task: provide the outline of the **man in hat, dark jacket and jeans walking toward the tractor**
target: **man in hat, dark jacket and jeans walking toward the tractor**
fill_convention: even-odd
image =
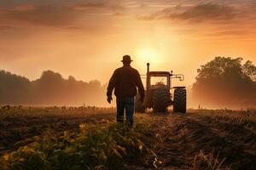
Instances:
[[[126,123],[133,124],[134,96],[137,94],[137,88],[141,95],[140,101],[144,100],[143,82],[139,72],[131,67],[131,57],[123,57],[123,66],[113,72],[113,76],[108,83],[108,103],[112,101],[112,92],[116,96],[117,122],[124,122],[124,112]]]

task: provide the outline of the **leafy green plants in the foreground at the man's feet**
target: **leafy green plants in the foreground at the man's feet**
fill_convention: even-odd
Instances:
[[[79,133],[64,132],[61,137],[44,133],[2,156],[0,169],[123,169],[125,161],[136,161],[147,152],[142,139],[149,123],[137,119],[132,128],[107,122],[81,124]]]

